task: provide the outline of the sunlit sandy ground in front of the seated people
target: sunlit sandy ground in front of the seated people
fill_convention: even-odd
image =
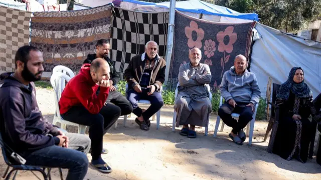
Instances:
[[[37,100],[48,119],[52,120],[55,110],[52,89],[37,88]],[[112,128],[104,136],[104,147],[109,150],[102,157],[113,168],[109,174],[89,168],[85,179],[320,179],[321,166],[313,159],[303,164],[295,159],[287,161],[266,151],[263,141],[267,121],[256,121],[253,145],[247,141],[240,146],[231,141],[225,126],[218,137],[213,137],[216,116],[211,115],[209,134],[197,128],[198,137],[187,138],[172,132],[173,106],[164,106],[161,112],[161,127],[156,130],[152,121],[149,131],[142,131],[134,123],[135,115],[119,118],[117,129]],[[76,131],[77,127],[67,126]],[[88,130],[88,128],[87,128]],[[88,135],[88,133],[86,134]],[[91,156],[88,154],[89,160]],[[6,164],[1,159],[2,173]],[[66,177],[67,170],[63,171]],[[53,169],[53,179],[59,179]],[[17,179],[37,179],[31,172],[20,171]],[[42,179],[42,178],[41,178]]]

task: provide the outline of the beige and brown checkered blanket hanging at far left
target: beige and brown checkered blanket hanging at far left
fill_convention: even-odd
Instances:
[[[15,70],[19,47],[29,43],[31,12],[0,6],[0,73]]]

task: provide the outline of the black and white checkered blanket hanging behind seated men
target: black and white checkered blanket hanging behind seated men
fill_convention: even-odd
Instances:
[[[145,43],[154,40],[158,54],[166,53],[169,13],[146,13],[114,7],[111,59],[115,61],[120,79],[131,57],[145,51]]]

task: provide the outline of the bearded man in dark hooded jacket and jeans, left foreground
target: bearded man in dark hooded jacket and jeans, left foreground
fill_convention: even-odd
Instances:
[[[16,71],[1,75],[2,138],[27,165],[68,168],[66,179],[83,179],[91,140],[83,134],[64,134],[42,115],[33,81],[40,80],[43,61],[36,47],[22,46],[15,56]]]

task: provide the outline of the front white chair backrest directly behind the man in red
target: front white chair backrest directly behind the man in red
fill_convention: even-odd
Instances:
[[[60,100],[61,93],[65,88],[65,83],[63,83],[62,85],[61,81],[65,82],[65,80],[68,82],[70,80],[70,76],[62,72],[53,73],[50,77],[51,86],[53,87],[55,92],[54,98],[55,98],[55,105],[56,105],[56,115],[58,118],[61,118],[58,102]]]

